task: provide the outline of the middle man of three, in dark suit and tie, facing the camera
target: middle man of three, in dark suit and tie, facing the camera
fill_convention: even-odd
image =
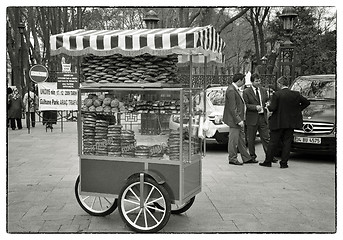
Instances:
[[[258,73],[250,77],[252,86],[243,92],[243,98],[247,106],[245,124],[247,125],[248,148],[252,159],[256,160],[255,139],[257,131],[260,134],[263,150],[267,153],[269,142],[269,129],[267,122],[267,110],[264,108],[269,99],[267,89],[261,87],[261,79]]]

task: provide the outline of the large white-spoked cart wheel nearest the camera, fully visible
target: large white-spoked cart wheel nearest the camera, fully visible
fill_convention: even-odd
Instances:
[[[145,178],[143,186],[139,177],[129,180],[120,191],[119,201],[120,216],[136,232],[158,232],[169,220],[169,194],[151,178]]]

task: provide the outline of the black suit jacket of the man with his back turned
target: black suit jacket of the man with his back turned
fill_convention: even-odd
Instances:
[[[274,93],[268,109],[272,111],[269,118],[269,129],[302,128],[304,110],[310,101],[299,92],[284,88]]]

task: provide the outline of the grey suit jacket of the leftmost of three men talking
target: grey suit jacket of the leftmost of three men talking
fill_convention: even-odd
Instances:
[[[229,127],[239,128],[238,123],[244,120],[245,104],[238,90],[229,84],[225,93],[223,122]]]

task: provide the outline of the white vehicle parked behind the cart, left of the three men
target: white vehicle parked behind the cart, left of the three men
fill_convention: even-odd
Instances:
[[[206,141],[224,144],[228,142],[229,126],[223,121],[223,112],[225,105],[225,92],[227,86],[209,86],[206,91],[206,119],[210,129],[206,132]],[[195,108],[203,111],[204,106],[201,104],[201,95],[194,99]],[[188,124],[188,119],[184,119],[184,126]],[[177,130],[180,127],[180,116],[172,115],[169,121],[169,128]]]

